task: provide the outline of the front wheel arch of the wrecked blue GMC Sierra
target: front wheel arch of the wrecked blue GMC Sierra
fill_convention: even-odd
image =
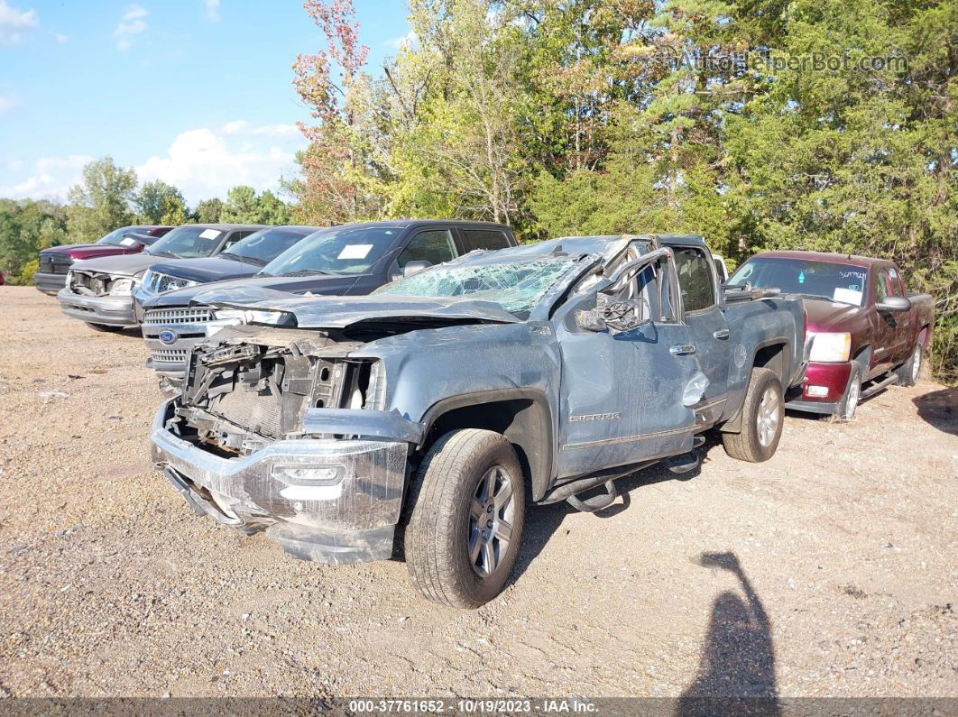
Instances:
[[[555,447],[549,401],[534,389],[499,389],[445,398],[422,417],[422,450],[449,431],[480,428],[500,433],[513,444],[519,464],[530,482],[534,501],[549,486]]]

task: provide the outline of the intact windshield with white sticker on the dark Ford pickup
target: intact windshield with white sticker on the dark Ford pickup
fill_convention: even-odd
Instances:
[[[331,227],[308,235],[270,261],[263,274],[361,274],[396,242],[399,227]]]

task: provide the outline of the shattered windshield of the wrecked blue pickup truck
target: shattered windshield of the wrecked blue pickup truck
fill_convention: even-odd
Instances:
[[[393,281],[375,293],[496,302],[516,318],[526,320],[575,263],[576,259],[563,256],[445,264]]]

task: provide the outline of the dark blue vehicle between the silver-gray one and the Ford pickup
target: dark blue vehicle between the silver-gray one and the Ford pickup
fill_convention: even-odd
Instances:
[[[137,318],[143,318],[144,302],[159,294],[211,281],[252,277],[289,247],[318,230],[319,227],[299,225],[267,227],[245,236],[216,257],[171,259],[153,264],[133,293]]]

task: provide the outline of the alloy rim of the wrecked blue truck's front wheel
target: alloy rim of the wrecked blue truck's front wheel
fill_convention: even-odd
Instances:
[[[501,465],[493,465],[479,479],[469,505],[469,564],[480,576],[487,577],[502,565],[513,539],[514,519],[513,477]]]

